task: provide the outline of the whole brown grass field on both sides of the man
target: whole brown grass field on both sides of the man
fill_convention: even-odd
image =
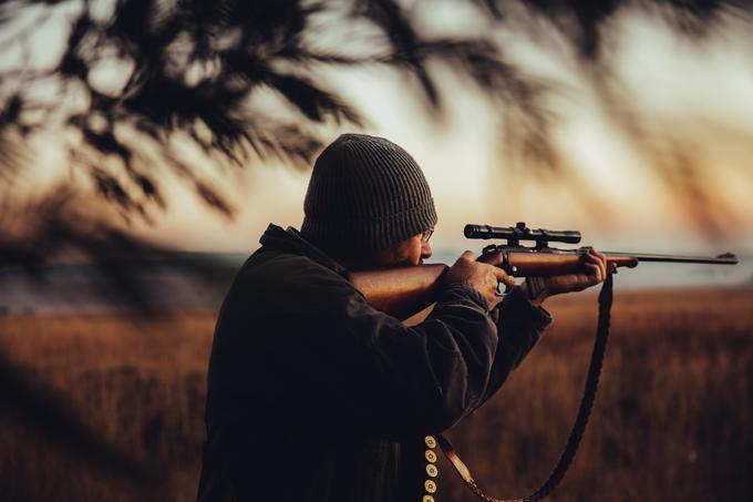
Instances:
[[[580,399],[596,298],[547,307],[546,337],[448,433],[494,496],[523,496],[544,481]],[[210,311],[0,316],[6,373],[155,474],[144,480],[62,438],[50,409],[3,407],[2,500],[195,499],[213,325]],[[444,460],[440,484],[440,502],[475,500]],[[753,289],[617,291],[591,422],[551,500],[753,500]]]

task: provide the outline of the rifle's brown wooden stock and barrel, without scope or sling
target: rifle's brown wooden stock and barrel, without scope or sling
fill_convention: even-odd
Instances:
[[[555,276],[581,272],[582,255],[588,248],[535,250],[504,246],[485,252],[479,262],[505,269],[515,277]],[[734,265],[737,258],[732,254],[718,257],[652,255],[630,253],[604,253],[609,264],[633,268],[639,262],[695,263]],[[350,273],[353,286],[363,294],[367,301],[378,310],[399,319],[406,319],[436,301],[444,284],[447,265],[416,265],[378,270],[354,270]]]

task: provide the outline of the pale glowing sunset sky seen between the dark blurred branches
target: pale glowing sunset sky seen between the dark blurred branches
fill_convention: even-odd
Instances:
[[[427,19],[477,22],[450,3]],[[394,141],[423,167],[440,215],[432,237],[437,249],[478,247],[462,238],[465,223],[525,221],[532,227],[579,229],[584,243],[602,249],[753,253],[751,20],[726,19],[704,44],[679,38],[642,11],[627,12],[615,23],[605,41],[617,54],[613,79],[651,139],[651,151],[637,148],[616,125],[613,111],[599,101],[586,70],[554,30],[533,37],[512,27],[499,33],[505,52],[520,68],[557,89],[549,102],[557,116],[555,143],[578,178],[530,176],[525,165],[513,166],[499,135],[499,111],[448,72],[441,120],[425,113],[405,75],[393,71],[351,69],[321,78],[364,114],[368,125],[361,132]],[[34,58],[54,60],[54,48],[62,48],[65,38],[63,25],[53,18],[40,30]],[[7,64],[12,54],[4,58]],[[331,140],[347,131],[333,130]],[[687,147],[702,166],[703,182],[719,194],[715,204],[730,216],[716,239],[698,230],[692,212],[650,168],[670,143]],[[53,145],[39,148],[38,156],[39,178],[66,172]],[[238,209],[233,221],[208,211],[193,193],[174,188],[167,212],[137,232],[178,249],[252,250],[270,222],[300,225],[308,175],[256,163],[217,176],[215,185]]]

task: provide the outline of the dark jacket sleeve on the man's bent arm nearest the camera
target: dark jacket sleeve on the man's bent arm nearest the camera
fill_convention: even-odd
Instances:
[[[472,288],[447,287],[430,317],[412,328],[358,295],[343,314],[337,331],[348,339],[358,383],[349,406],[370,432],[395,438],[437,432],[481,404],[497,329]]]

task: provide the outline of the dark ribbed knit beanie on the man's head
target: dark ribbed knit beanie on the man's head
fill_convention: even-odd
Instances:
[[[333,256],[367,256],[436,225],[419,164],[365,134],[343,134],[319,155],[303,212],[301,235]]]

